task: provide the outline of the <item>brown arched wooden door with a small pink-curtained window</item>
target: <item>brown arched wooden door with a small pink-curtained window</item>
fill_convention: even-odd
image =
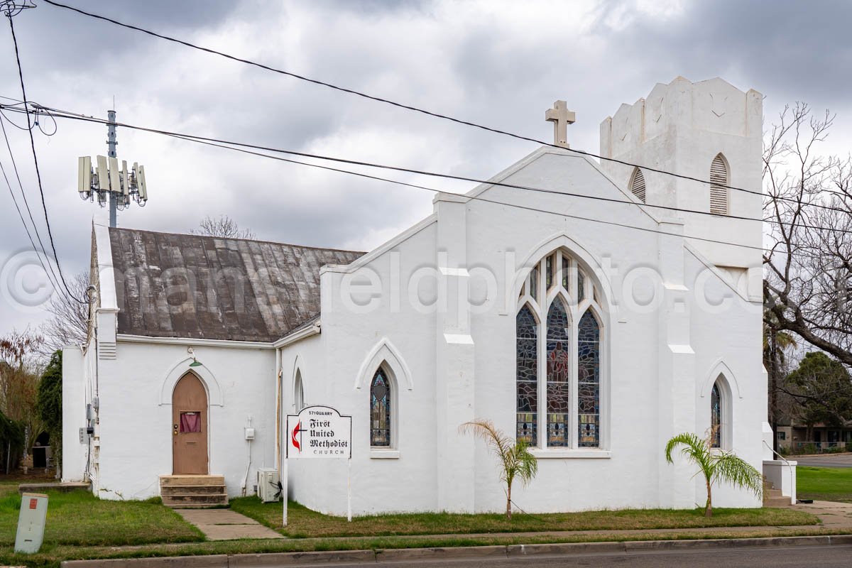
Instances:
[[[187,373],[171,395],[172,473],[207,475],[207,393]]]

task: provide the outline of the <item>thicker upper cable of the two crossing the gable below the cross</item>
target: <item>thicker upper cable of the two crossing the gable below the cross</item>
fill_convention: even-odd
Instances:
[[[12,106],[4,106],[3,104],[0,104],[0,109],[2,109],[2,108],[9,108],[9,110],[12,110],[14,112],[29,112],[29,111],[23,111],[23,110],[14,108]],[[43,109],[44,111],[52,113],[52,116],[54,116],[55,118],[68,118],[68,119],[71,119],[71,120],[78,120],[78,121],[83,121],[83,122],[91,122],[91,123],[99,123],[99,124],[106,124],[107,123],[107,121],[102,119],[102,118],[89,117],[89,116],[79,114],[79,113],[62,111],[60,109],[51,108],[49,106],[40,106],[39,108]],[[270,146],[259,146],[259,145],[255,145],[255,144],[248,144],[248,143],[245,143],[245,142],[227,141],[227,140],[221,140],[221,139],[217,139],[217,138],[209,138],[209,137],[206,137],[206,136],[189,135],[189,134],[184,134],[184,133],[180,133],[180,132],[172,132],[172,131],[169,131],[169,130],[147,128],[147,127],[137,126],[135,124],[129,124],[129,123],[117,123],[117,125],[121,126],[123,128],[127,128],[127,129],[135,129],[135,130],[141,130],[143,132],[151,132],[153,134],[179,137],[179,138],[183,138],[185,140],[193,139],[195,141],[206,141],[206,142],[213,142],[213,143],[218,143],[218,144],[227,144],[227,145],[231,145],[231,146],[243,146],[243,147],[246,147],[246,148],[253,148],[253,149],[262,150],[262,151],[265,151],[265,152],[279,152],[279,153],[290,154],[290,155],[293,155],[293,156],[299,156],[299,157],[302,157],[302,158],[320,159],[320,160],[326,160],[326,161],[331,161],[331,162],[337,162],[337,163],[341,163],[341,164],[366,166],[366,167],[377,168],[377,169],[390,169],[390,170],[400,171],[400,172],[407,173],[407,174],[426,175],[426,176],[429,176],[429,177],[440,177],[440,178],[445,178],[445,179],[450,179],[450,180],[455,180],[455,181],[470,181],[470,182],[473,182],[473,183],[486,184],[486,185],[491,185],[491,186],[509,187],[509,188],[513,188],[513,189],[522,189],[522,190],[532,191],[532,192],[544,192],[544,193],[562,195],[562,196],[567,196],[567,197],[591,199],[591,200],[594,200],[594,201],[602,201],[602,202],[616,203],[616,204],[629,204],[629,205],[636,205],[636,206],[639,206],[639,207],[649,207],[649,208],[654,208],[654,209],[665,209],[665,210],[677,211],[679,213],[691,213],[691,214],[695,214],[695,215],[710,215],[712,217],[723,216],[724,218],[727,218],[727,219],[737,219],[737,220],[741,220],[741,221],[769,222],[769,223],[773,223],[773,224],[781,225],[781,226],[785,226],[785,225],[790,226],[791,225],[790,223],[785,223],[784,221],[775,221],[773,219],[762,219],[762,218],[758,219],[758,218],[755,218],[755,217],[746,217],[746,216],[742,216],[742,215],[717,215],[717,214],[711,213],[710,211],[701,211],[701,210],[698,210],[698,209],[681,209],[681,208],[673,207],[673,206],[670,206],[670,205],[659,205],[659,204],[640,204],[640,203],[636,203],[636,202],[633,202],[633,201],[625,201],[623,199],[606,198],[606,197],[596,196],[596,195],[585,195],[583,193],[561,192],[561,191],[557,191],[557,190],[544,189],[542,187],[520,186],[520,185],[516,185],[516,184],[502,182],[502,181],[481,180],[481,179],[477,179],[477,178],[473,178],[473,177],[467,177],[467,176],[463,176],[463,175],[440,174],[440,173],[437,173],[437,172],[431,172],[431,171],[421,170],[421,169],[402,168],[400,166],[391,166],[391,165],[387,165],[387,164],[376,164],[376,163],[364,162],[364,161],[360,161],[360,160],[350,160],[350,159],[347,159],[347,158],[336,158],[336,157],[331,157],[331,156],[324,156],[324,155],[321,155],[321,154],[312,154],[312,153],[308,153],[308,152],[296,152],[294,150],[286,150],[286,149],[283,149],[283,148],[274,148],[274,147],[270,147]],[[561,148],[561,149],[564,150],[564,148]],[[844,212],[843,209],[831,208],[831,207],[828,207],[826,205],[820,205],[820,207]],[[834,227],[820,227],[820,226],[806,225],[806,224],[797,224],[797,227],[802,227],[802,228],[807,228],[807,229],[815,229],[815,230],[820,230],[820,231],[832,230],[832,231],[838,231],[838,232],[852,233],[852,230],[836,229]]]

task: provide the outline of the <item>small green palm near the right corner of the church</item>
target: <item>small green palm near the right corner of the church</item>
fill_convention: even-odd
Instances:
[[[682,454],[699,467],[699,473],[704,474],[707,486],[705,517],[713,516],[712,487],[717,481],[726,481],[736,487],[747,489],[758,498],[763,496],[763,476],[757,469],[732,451],[712,449],[712,439],[712,431],[705,439],[700,439],[694,433],[682,433],[677,434],[665,445],[666,462],[674,463],[671,459],[672,450],[675,450],[677,446],[683,446]]]

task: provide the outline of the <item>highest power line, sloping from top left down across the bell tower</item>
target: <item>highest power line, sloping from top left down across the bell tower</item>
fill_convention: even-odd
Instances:
[[[630,166],[630,167],[633,167],[633,168],[641,168],[641,169],[644,169],[645,171],[651,171],[651,172],[654,172],[654,173],[657,173],[657,174],[672,175],[672,176],[680,178],[682,180],[697,181],[697,182],[702,183],[702,184],[710,184],[711,183],[711,181],[709,181],[709,180],[702,180],[700,178],[693,177],[691,175],[676,174],[674,172],[666,171],[665,169],[657,169],[657,168],[652,168],[650,166],[633,164],[633,163],[627,162],[625,160],[620,160],[618,158],[609,158],[609,157],[601,156],[601,155],[593,153],[593,152],[586,152],[584,150],[575,150],[573,148],[566,148],[564,146],[559,146],[557,144],[553,144],[553,143],[550,143],[550,142],[541,141],[541,140],[538,140],[536,138],[532,138],[530,136],[519,135],[519,134],[516,134],[514,132],[509,132],[507,130],[496,129],[496,128],[492,128],[490,126],[486,126],[484,124],[474,123],[474,122],[470,122],[468,120],[463,120],[462,118],[451,117],[451,116],[446,115],[446,114],[441,114],[440,112],[428,111],[428,110],[425,110],[423,108],[420,108],[420,107],[417,107],[417,106],[412,106],[412,105],[406,105],[404,103],[400,103],[400,102],[397,102],[395,100],[384,99],[383,97],[379,97],[379,96],[376,96],[376,95],[369,95],[369,94],[364,93],[362,91],[357,91],[357,90],[354,90],[354,89],[347,89],[345,87],[341,87],[341,86],[336,85],[334,83],[328,83],[328,82],[325,82],[325,81],[320,81],[319,79],[306,77],[304,75],[300,75],[300,74],[295,73],[295,72],[285,71],[284,69],[279,69],[279,68],[276,68],[276,67],[272,67],[272,66],[264,65],[262,63],[258,63],[258,62],[253,61],[253,60],[248,60],[248,59],[244,59],[244,58],[241,58],[241,57],[237,57],[236,55],[229,55],[229,54],[223,53],[222,51],[217,51],[216,49],[205,48],[205,47],[197,45],[195,43],[187,42],[187,41],[182,40],[182,39],[177,39],[176,37],[166,36],[162,33],[153,32],[151,30],[147,30],[147,29],[139,27],[139,26],[133,26],[131,24],[126,24],[126,23],[118,21],[118,20],[113,20],[112,18],[107,18],[107,16],[103,16],[101,14],[94,14],[92,12],[87,12],[85,10],[75,8],[73,6],[68,6],[67,4],[54,2],[53,0],[44,0],[44,2],[49,3],[53,6],[56,6],[57,8],[72,10],[73,12],[77,12],[78,14],[83,14],[85,16],[89,16],[90,18],[95,18],[96,20],[107,21],[107,22],[114,24],[116,26],[122,26],[122,27],[128,28],[130,30],[134,30],[135,32],[142,32],[142,33],[145,33],[149,36],[158,37],[160,39],[164,39],[164,40],[169,41],[169,42],[179,43],[179,44],[184,45],[188,48],[199,49],[200,51],[204,51],[204,52],[212,54],[212,55],[219,55],[219,56],[224,57],[224,58],[229,59],[229,60],[238,61],[239,63],[245,63],[245,65],[259,67],[259,68],[261,68],[265,71],[269,71],[269,72],[273,72],[273,73],[279,73],[279,75],[285,75],[287,77],[293,77],[293,78],[299,79],[301,81],[307,81],[308,83],[314,83],[314,84],[320,85],[322,87],[327,87],[328,89],[335,89],[337,91],[347,93],[348,95],[356,95],[356,96],[360,96],[360,97],[368,99],[368,100],[375,100],[376,102],[381,102],[381,103],[384,103],[386,105],[396,106],[398,108],[403,108],[403,109],[406,109],[408,111],[419,112],[421,114],[424,114],[424,115],[432,117],[432,118],[440,118],[442,120],[447,120],[447,121],[450,121],[452,123],[463,124],[465,126],[471,126],[475,129],[485,130],[486,132],[492,132],[494,134],[510,136],[510,137],[515,138],[517,140],[534,142],[534,143],[540,144],[542,146],[550,146],[550,147],[554,147],[554,148],[559,148],[561,150],[567,150],[568,152],[574,152],[574,153],[579,154],[581,156],[586,156],[586,157],[589,157],[589,158],[597,158],[597,159],[600,159],[600,160],[606,160],[607,162],[613,162],[614,164],[622,164],[622,165]],[[724,187],[726,189],[731,189],[731,190],[738,191],[738,192],[746,192],[746,193],[752,193],[754,195],[763,196],[763,192],[755,191],[753,189],[746,189],[744,187],[728,186],[728,185],[722,185],[722,184],[713,184],[713,185],[719,186],[719,187]]]

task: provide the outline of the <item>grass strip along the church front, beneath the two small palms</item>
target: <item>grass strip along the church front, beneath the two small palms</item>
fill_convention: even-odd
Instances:
[[[711,519],[705,518],[703,509],[626,509],[536,515],[515,513],[510,521],[502,514],[383,514],[354,517],[349,523],[343,517],[315,513],[291,502],[287,526],[282,528],[281,503],[262,503],[256,497],[241,497],[231,500],[231,508],[294,538],[815,525],[818,522],[814,515],[792,509],[714,508]]]

